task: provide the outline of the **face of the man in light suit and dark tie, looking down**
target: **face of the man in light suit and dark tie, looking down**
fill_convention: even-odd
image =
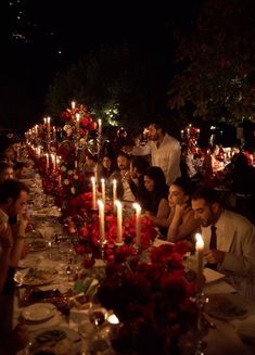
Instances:
[[[207,203],[204,199],[191,201],[194,211],[194,218],[199,219],[203,227],[208,227],[216,220],[216,215],[219,208],[218,203]]]

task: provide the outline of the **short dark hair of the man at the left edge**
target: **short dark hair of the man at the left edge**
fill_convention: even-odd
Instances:
[[[29,192],[28,187],[24,182],[15,179],[3,181],[0,185],[0,203],[7,203],[10,198],[16,201],[22,191]]]

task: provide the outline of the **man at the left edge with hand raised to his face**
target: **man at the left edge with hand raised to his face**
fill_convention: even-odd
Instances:
[[[28,218],[24,212],[28,198],[28,188],[25,183],[10,179],[0,185],[0,229],[11,233],[13,246],[9,258],[9,276],[2,290],[3,294],[12,293],[13,275],[18,261],[27,252],[25,243],[25,232]],[[14,225],[10,225],[10,219],[17,216]]]

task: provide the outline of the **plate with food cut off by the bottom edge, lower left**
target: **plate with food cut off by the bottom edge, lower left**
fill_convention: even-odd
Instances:
[[[35,334],[29,346],[29,354],[36,355],[40,352],[55,355],[75,355],[78,353],[76,344],[79,341],[79,334],[72,329],[46,329]]]

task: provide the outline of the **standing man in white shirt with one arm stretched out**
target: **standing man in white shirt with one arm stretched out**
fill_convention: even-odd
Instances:
[[[156,123],[148,127],[149,142],[143,147],[125,147],[123,150],[132,155],[151,154],[152,166],[160,166],[170,186],[180,174],[180,143],[167,135],[162,125]]]

